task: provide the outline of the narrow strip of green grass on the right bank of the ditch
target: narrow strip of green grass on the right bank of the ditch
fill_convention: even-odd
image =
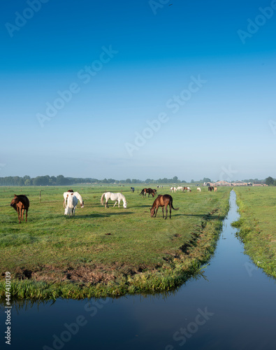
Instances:
[[[245,252],[264,272],[276,278],[276,187],[235,188],[240,219],[232,225]]]

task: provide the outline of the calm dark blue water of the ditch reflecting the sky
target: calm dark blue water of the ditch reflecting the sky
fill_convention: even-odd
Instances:
[[[1,349],[276,349],[276,283],[243,253],[235,193],[205,277],[174,293],[16,305]],[[5,327],[5,326],[4,326]],[[5,346],[6,345],[6,346]]]

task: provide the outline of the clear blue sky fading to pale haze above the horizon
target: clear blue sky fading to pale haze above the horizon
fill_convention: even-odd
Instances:
[[[274,0],[1,6],[0,176],[276,176]]]

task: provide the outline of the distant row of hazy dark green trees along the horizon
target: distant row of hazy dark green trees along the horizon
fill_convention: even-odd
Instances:
[[[211,182],[209,178],[204,178],[199,181],[191,180],[191,183],[204,183]],[[268,176],[266,180],[258,180],[258,179],[249,179],[245,182],[252,183],[266,183],[268,186],[274,185],[276,186],[276,180],[271,176]],[[63,175],[59,176],[36,176],[35,178],[31,178],[26,175],[23,177],[20,176],[6,176],[0,177],[0,186],[70,186],[74,183],[187,183],[187,181],[179,180],[177,176],[174,176],[172,179],[146,179],[145,181],[141,181],[139,179],[125,179],[125,180],[115,180],[115,179],[92,179],[92,178],[73,178],[73,177],[64,177]]]

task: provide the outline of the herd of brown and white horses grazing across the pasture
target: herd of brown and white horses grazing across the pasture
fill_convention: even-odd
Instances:
[[[191,189],[189,187],[182,187],[179,186],[177,188],[172,187],[170,188],[170,192],[176,192],[177,190],[187,190],[188,192],[191,192]],[[131,191],[134,192],[134,188],[131,188]],[[201,188],[197,188],[197,191],[201,192]],[[217,191],[216,187],[209,186],[208,191]],[[139,195],[146,196],[148,194],[148,197],[152,195],[152,197],[155,197],[157,194],[157,190],[154,190],[152,188],[143,188],[143,190],[139,193]],[[104,200],[106,200],[105,203]],[[123,207],[126,209],[126,198],[122,193],[112,193],[112,192],[105,192],[103,195],[101,195],[101,204],[105,204],[105,208],[108,208],[108,200],[115,201],[115,205],[118,203],[123,202]],[[85,202],[82,200],[82,196],[78,192],[74,192],[73,190],[67,190],[64,192],[64,215],[74,216],[75,215],[75,207],[77,206],[78,202],[80,202],[80,207],[83,208]],[[25,211],[25,218],[27,222],[27,216],[28,216],[28,210],[29,210],[29,199],[25,195],[14,195],[13,200],[10,202],[10,207],[13,207],[15,211],[17,211],[18,214],[18,221],[21,223],[24,216]],[[178,210],[179,208],[175,209],[173,207],[173,197],[170,195],[158,195],[156,200],[154,200],[154,203],[152,204],[152,208],[150,209],[150,215],[153,217],[157,216],[157,210],[158,208],[162,208],[163,218],[164,218],[164,207],[166,210],[166,218],[168,216],[168,207],[170,207],[170,216],[171,216],[171,209]],[[166,219],[165,218],[165,219]]]

